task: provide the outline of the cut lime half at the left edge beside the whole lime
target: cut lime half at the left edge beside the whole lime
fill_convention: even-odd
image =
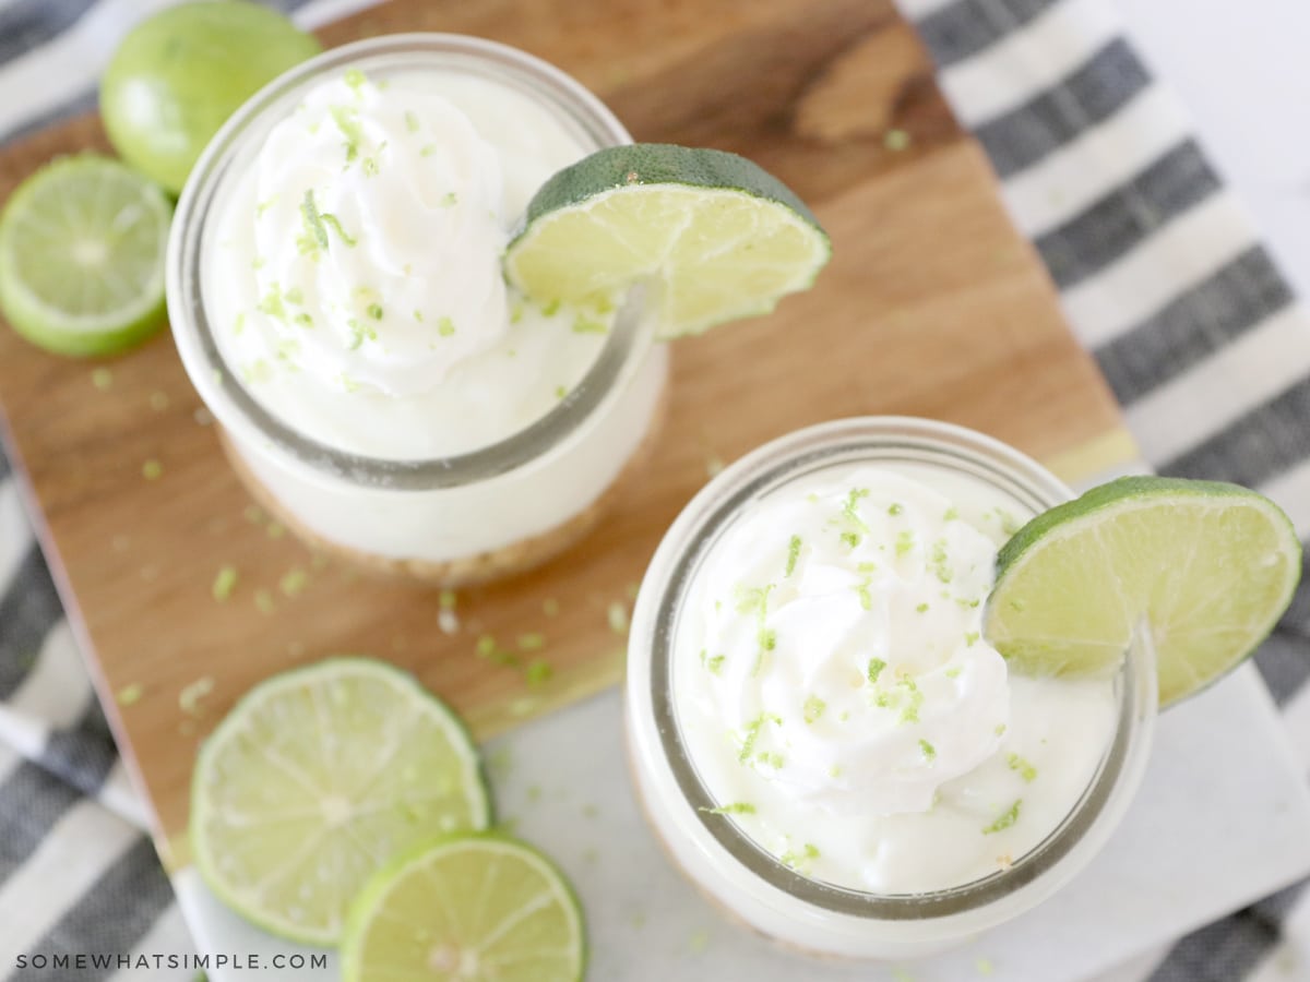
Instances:
[[[96,155],[29,177],[0,215],[0,309],[60,355],[107,355],[164,323],[173,206],[153,183]]]

